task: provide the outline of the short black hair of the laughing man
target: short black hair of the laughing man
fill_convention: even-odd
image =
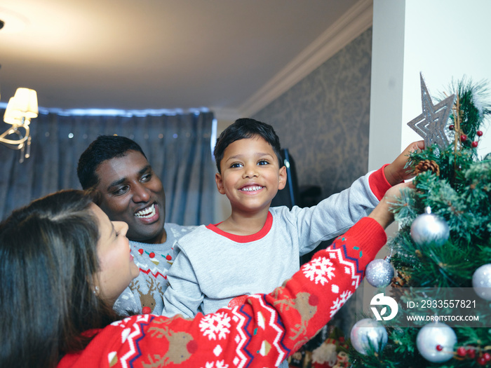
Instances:
[[[95,170],[106,160],[123,157],[128,151],[140,152],[147,158],[142,151],[142,147],[132,139],[119,135],[100,135],[94,142],[90,143],[79,158],[79,165],[76,168],[76,175],[83,189],[90,189],[99,183],[99,177]]]

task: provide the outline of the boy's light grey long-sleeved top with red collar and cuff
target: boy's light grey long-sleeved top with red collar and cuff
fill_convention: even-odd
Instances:
[[[381,170],[316,206],[271,207],[266,224],[253,235],[236,236],[208,225],[180,238],[163,315],[213,313],[241,304],[245,295],[272,292],[300,269],[300,255],[346,232],[379,203],[370,184],[381,193],[389,189]]]

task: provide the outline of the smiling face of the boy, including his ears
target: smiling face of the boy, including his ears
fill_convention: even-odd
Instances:
[[[262,137],[239,139],[227,146],[215,175],[217,189],[229,198],[232,212],[253,213],[269,208],[285,187],[286,168],[279,167],[273,147]]]

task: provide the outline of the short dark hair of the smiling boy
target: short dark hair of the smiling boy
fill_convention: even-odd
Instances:
[[[213,156],[215,156],[218,172],[221,173],[220,162],[222,161],[225,149],[239,139],[250,138],[255,135],[262,137],[262,139],[271,144],[276,157],[278,157],[278,163],[281,168],[283,166],[283,158],[281,158],[280,139],[276,135],[273,127],[252,118],[240,118],[232,125],[229,125],[217,139]]]

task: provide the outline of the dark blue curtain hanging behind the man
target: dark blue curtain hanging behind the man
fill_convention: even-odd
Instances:
[[[1,116],[4,115],[0,111]],[[0,145],[0,216],[60,189],[80,189],[76,165],[99,135],[135,140],[161,177],[166,191],[166,222],[213,222],[215,165],[210,149],[213,113],[146,116],[63,116],[40,114],[32,120],[31,157]],[[7,124],[0,123],[0,130]]]

